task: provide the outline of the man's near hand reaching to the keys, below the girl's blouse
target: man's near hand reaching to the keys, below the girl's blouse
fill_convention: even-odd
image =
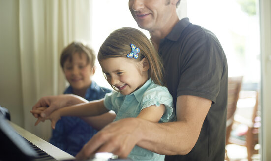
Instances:
[[[143,138],[143,134],[138,131],[140,123],[139,118],[125,118],[107,125],[84,145],[76,158],[85,160],[97,152],[111,152],[120,158],[127,158]]]

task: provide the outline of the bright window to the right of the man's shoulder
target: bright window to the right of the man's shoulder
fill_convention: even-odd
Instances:
[[[256,0],[188,0],[190,22],[212,31],[228,60],[229,76],[243,75],[242,88],[257,90],[260,29]]]

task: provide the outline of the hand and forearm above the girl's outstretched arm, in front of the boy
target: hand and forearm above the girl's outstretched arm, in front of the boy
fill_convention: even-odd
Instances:
[[[45,96],[42,97],[33,107],[31,111],[36,111],[40,107],[47,107],[43,109],[39,114],[32,113],[36,118],[46,118],[49,116],[53,111],[60,109],[62,107],[67,107],[83,102],[88,102],[82,97],[72,95],[72,94],[64,94],[58,96]]]

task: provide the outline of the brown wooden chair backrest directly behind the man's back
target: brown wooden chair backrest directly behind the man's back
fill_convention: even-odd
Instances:
[[[231,134],[236,105],[241,90],[243,76],[229,77],[228,79],[228,104],[227,104],[227,129],[226,129],[226,144]]]

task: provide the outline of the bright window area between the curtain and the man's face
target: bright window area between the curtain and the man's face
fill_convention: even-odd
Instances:
[[[94,51],[98,53],[100,46],[107,36],[121,27],[133,27],[141,30],[147,37],[149,32],[137,26],[132,17],[128,0],[92,0],[92,40]],[[96,62],[97,70],[93,80],[100,86],[111,88],[103,78],[99,62]]]

